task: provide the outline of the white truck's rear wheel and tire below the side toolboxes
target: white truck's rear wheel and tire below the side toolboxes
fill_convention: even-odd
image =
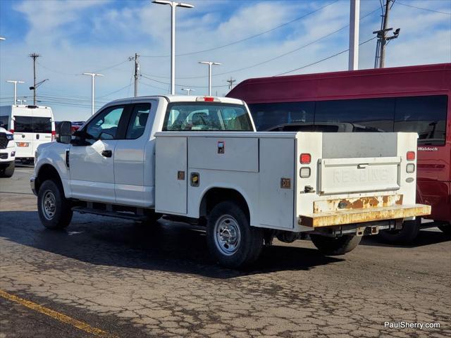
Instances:
[[[226,268],[254,263],[260,256],[263,237],[263,230],[251,227],[243,209],[233,201],[217,204],[209,214],[206,241],[218,263]]]

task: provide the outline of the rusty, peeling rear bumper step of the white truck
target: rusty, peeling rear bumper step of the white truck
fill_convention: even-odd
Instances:
[[[393,220],[431,213],[431,206],[414,204],[410,206],[384,206],[380,208],[347,209],[342,211],[299,215],[298,224],[307,227],[333,227],[337,225]]]

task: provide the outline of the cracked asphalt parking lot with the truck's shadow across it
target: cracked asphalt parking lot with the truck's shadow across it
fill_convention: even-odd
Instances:
[[[436,228],[338,257],[275,241],[235,271],[180,223],[75,214],[46,230],[31,173],[0,179],[0,338],[451,336],[451,238]],[[402,321],[440,328],[384,327]]]

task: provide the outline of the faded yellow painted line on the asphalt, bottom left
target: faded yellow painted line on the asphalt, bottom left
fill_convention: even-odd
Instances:
[[[44,315],[48,315],[49,317],[59,320],[60,322],[72,325],[90,334],[94,334],[94,336],[118,338],[118,336],[105,332],[104,330],[100,330],[97,327],[92,327],[91,325],[80,322],[80,320],[71,318],[68,315],[63,315],[63,313],[51,310],[37,303],[33,303],[32,301],[27,301],[26,299],[14,296],[13,294],[8,294],[8,292],[4,292],[3,290],[0,290],[0,296],[3,297],[4,299],[8,299],[9,301],[15,301],[16,303],[26,306],[27,308],[31,308],[32,310],[35,310],[39,313],[43,313]]]

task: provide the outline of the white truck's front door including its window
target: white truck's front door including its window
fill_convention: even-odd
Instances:
[[[97,113],[71,144],[70,187],[74,198],[116,203],[114,151],[125,133],[125,107],[110,106]]]

